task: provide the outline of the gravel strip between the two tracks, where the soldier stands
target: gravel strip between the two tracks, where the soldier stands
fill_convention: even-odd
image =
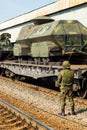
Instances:
[[[1,78],[0,80],[2,81],[0,92],[5,93],[4,99],[26,111],[26,113],[35,115],[37,119],[45,122],[54,130],[87,129],[87,100],[75,98],[76,116],[68,115],[69,105],[67,105],[66,116],[62,117],[58,115],[60,112],[60,94],[58,92],[19,81],[13,82],[7,78]]]

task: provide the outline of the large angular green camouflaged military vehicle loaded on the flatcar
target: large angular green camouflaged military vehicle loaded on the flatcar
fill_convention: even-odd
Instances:
[[[24,26],[13,49],[17,57],[42,62],[87,56],[87,28],[77,20],[49,21]],[[84,58],[86,60],[86,58]]]

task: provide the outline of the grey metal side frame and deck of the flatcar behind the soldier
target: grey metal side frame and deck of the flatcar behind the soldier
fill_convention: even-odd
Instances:
[[[14,74],[28,76],[35,79],[57,76],[62,69],[61,65],[37,65],[30,63],[16,63],[16,62],[0,62],[0,67],[11,71]],[[81,75],[87,71],[87,65],[71,65],[75,70],[75,78],[80,78]]]

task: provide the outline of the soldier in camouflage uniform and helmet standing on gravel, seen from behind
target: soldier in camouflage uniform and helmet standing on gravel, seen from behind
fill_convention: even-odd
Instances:
[[[73,82],[74,82],[74,72],[70,69],[69,61],[63,62],[63,70],[60,71],[57,86],[60,85],[61,91],[61,115],[65,116],[65,105],[66,105],[66,97],[68,96],[70,106],[71,106],[71,114],[75,115],[74,112],[74,100],[73,100]]]

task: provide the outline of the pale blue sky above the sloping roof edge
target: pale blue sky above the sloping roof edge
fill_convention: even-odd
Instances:
[[[0,0],[0,23],[58,0]]]

